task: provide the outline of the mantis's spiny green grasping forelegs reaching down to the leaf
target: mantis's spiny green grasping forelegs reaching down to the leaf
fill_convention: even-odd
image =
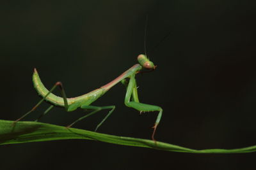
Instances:
[[[130,101],[131,96],[132,96],[132,101]],[[125,94],[124,103],[127,107],[134,108],[138,111],[159,111],[157,118],[156,118],[156,122],[153,126],[154,131],[152,133],[152,140],[156,141],[154,138],[154,135],[156,132],[157,125],[159,124],[159,122],[161,120],[163,109],[159,106],[154,106],[151,104],[144,104],[144,103],[139,102],[136,80],[135,80],[134,74],[131,76],[129,84],[127,85],[127,92]]]

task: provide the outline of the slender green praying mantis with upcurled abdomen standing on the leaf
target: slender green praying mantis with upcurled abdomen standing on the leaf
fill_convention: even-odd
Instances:
[[[159,124],[161,120],[161,116],[163,113],[163,109],[159,106],[154,106],[151,104],[144,104],[140,103],[139,98],[138,98],[138,91],[137,91],[137,85],[136,85],[136,80],[135,76],[138,73],[143,73],[143,70],[147,71],[153,71],[156,69],[156,66],[154,65],[153,62],[151,62],[146,55],[138,55],[138,63],[139,64],[134,64],[131,68],[127,69],[124,73],[120,74],[115,80],[110,81],[106,85],[103,85],[99,89],[93,90],[92,92],[88,92],[87,94],[84,94],[82,96],[78,97],[72,97],[72,98],[67,98],[65,94],[65,90],[63,89],[63,85],[60,81],[56,82],[55,85],[52,87],[51,90],[47,90],[40,80],[40,77],[38,75],[38,72],[36,69],[34,69],[33,73],[33,84],[38,92],[38,94],[42,97],[42,99],[30,110],[28,113],[24,114],[22,117],[19,119],[15,120],[14,123],[18,122],[22,118],[26,117],[34,111],[43,101],[47,101],[48,103],[51,103],[52,105],[39,117],[41,118],[43,115],[48,113],[54,106],[60,106],[65,108],[66,111],[74,111],[77,108],[82,108],[86,110],[92,110],[92,112],[88,113],[87,115],[78,118],[75,122],[72,124],[68,125],[67,127],[71,127],[72,125],[76,124],[76,122],[83,120],[86,117],[89,117],[90,115],[93,115],[97,113],[100,110],[110,110],[106,117],[103,118],[103,120],[97,125],[95,131],[102,125],[102,123],[111,115],[111,113],[115,110],[115,106],[91,106],[94,101],[99,99],[103,94],[108,92],[111,87],[115,86],[117,83],[121,82],[122,84],[125,85],[126,87],[126,94],[125,94],[125,100],[124,103],[127,107],[134,108],[135,110],[138,110],[141,112],[145,111],[159,111],[156,122],[154,126],[152,127],[154,131],[152,132],[152,140],[156,141],[154,139],[154,134],[156,132],[157,125]],[[146,71],[146,72],[147,72]],[[60,87],[61,90],[61,97],[56,96],[52,94],[52,91],[56,89],[56,87]],[[38,121],[39,118],[35,121]]]

